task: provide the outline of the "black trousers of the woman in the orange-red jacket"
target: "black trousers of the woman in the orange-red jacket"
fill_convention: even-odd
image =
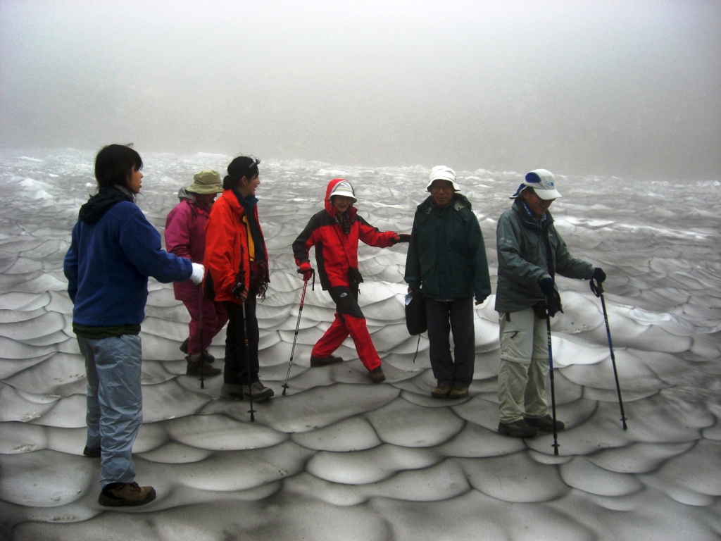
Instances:
[[[258,320],[255,317],[257,297],[249,295],[243,304],[224,301],[223,306],[228,312],[228,329],[226,331],[226,359],[223,370],[223,381],[230,384],[247,385],[258,380]],[[243,320],[247,315],[248,353],[245,357],[245,333]]]

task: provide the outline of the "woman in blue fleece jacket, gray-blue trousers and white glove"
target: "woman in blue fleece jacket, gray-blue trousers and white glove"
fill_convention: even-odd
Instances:
[[[163,283],[203,280],[203,265],[162,250],[160,235],[136,206],[142,167],[130,145],[98,152],[98,193],[80,208],[63,265],[88,379],[84,454],[101,457],[104,506],[138,506],[155,498],[154,488],[135,482],[131,458],[143,422],[139,333],[148,277]]]

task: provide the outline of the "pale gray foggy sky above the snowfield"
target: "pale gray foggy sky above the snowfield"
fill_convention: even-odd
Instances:
[[[718,1],[0,1],[4,148],[719,179],[720,97]]]

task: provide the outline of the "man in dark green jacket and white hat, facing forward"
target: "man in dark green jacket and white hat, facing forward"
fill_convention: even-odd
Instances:
[[[431,396],[462,398],[473,381],[473,299],[481,304],[491,294],[486,248],[454,170],[433,167],[426,190],[430,197],[415,212],[404,279],[409,291],[421,290],[425,299],[430,366],[438,382]]]

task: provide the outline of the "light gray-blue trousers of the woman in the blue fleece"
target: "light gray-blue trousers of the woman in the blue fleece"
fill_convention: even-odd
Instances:
[[[102,447],[100,486],[132,483],[131,452],[143,423],[140,336],[78,337],[88,378],[87,447]]]

